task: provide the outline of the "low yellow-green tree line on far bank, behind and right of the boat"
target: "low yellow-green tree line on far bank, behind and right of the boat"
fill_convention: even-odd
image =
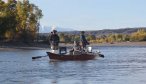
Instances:
[[[80,35],[59,33],[61,42],[73,43],[73,41],[80,40]],[[86,38],[90,43],[113,43],[113,42],[136,42],[146,41],[146,31],[139,29],[131,34],[111,33],[108,35],[86,34]]]

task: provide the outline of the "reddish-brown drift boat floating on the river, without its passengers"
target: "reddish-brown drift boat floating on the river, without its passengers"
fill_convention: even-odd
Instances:
[[[61,51],[65,51],[61,53]],[[52,52],[46,52],[50,59],[54,60],[92,60],[96,57],[104,57],[100,52],[86,52],[81,54],[66,54],[66,47],[60,48],[60,53],[55,54]]]

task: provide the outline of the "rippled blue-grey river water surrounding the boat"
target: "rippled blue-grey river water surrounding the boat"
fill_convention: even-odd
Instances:
[[[49,50],[0,49],[0,84],[146,84],[146,47],[93,47],[105,58],[50,61]]]

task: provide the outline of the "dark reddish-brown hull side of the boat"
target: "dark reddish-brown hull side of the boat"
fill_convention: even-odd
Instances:
[[[51,52],[47,52],[50,59],[54,60],[92,60],[97,57],[94,54],[81,54],[81,55],[59,55]]]

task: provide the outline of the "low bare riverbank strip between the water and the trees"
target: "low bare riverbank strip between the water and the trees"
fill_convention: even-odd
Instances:
[[[69,43],[60,43],[60,46],[72,47],[73,44]],[[114,43],[91,43],[89,46],[146,46],[146,41],[143,42],[114,42]],[[50,49],[50,45],[46,43],[3,43],[0,44],[0,50],[2,49]]]

